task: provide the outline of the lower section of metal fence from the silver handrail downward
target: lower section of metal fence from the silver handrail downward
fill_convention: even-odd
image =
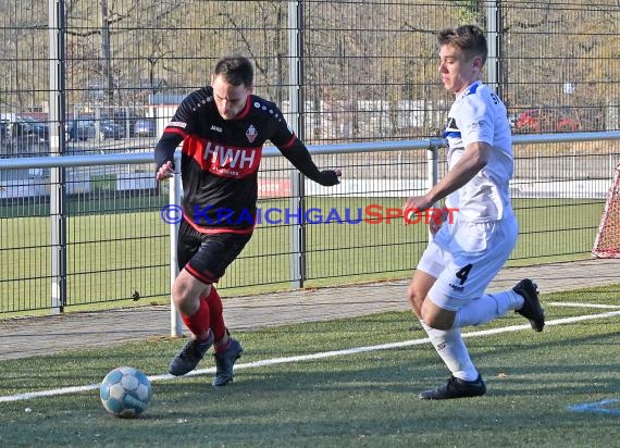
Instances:
[[[519,136],[516,144],[511,191],[521,231],[509,264],[590,257],[620,159],[620,132]],[[431,139],[312,147],[320,165],[340,166],[345,175],[334,188],[308,182],[303,198],[292,195],[285,159],[268,151],[256,235],[220,288],[247,294],[408,276],[427,227],[423,216],[404,227],[398,214],[404,198],[443,175],[443,145]],[[176,234],[166,224],[174,226],[178,216],[165,210],[178,176],[176,184],[157,185],[151,159],[0,160],[1,313],[168,300],[175,274],[174,239],[169,241]],[[69,191],[66,261],[55,265],[53,222],[60,216],[50,214],[46,174],[52,166],[66,170]],[[9,179],[20,171],[29,178]],[[172,197],[178,203],[174,190]]]

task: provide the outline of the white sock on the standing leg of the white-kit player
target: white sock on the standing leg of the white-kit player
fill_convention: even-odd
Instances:
[[[442,358],[454,376],[464,381],[478,379],[478,371],[471,362],[460,328],[452,327],[444,331],[432,328],[422,321],[420,323],[426,331],[431,344],[437,350],[439,358]]]

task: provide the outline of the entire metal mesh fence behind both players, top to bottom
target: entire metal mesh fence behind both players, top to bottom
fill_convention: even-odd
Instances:
[[[461,23],[487,30],[486,82],[507,102],[518,136],[620,129],[617,1],[0,4],[0,158],[149,153],[181,99],[208,84],[214,62],[231,52],[252,58],[256,92],[282,104],[308,145],[430,139],[451,101],[436,70],[435,33]],[[587,257],[619,152],[617,140],[516,148],[522,229],[511,263]],[[343,167],[351,190],[308,185],[306,210],[349,210],[351,217],[369,204],[400,207],[427,177],[423,150],[317,162]],[[165,297],[169,234],[159,211],[168,191],[153,184],[152,170],[0,171],[0,313],[49,309],[49,298],[61,296],[66,301],[55,306],[75,308]],[[299,202],[290,198],[289,166],[269,158],[261,170],[261,207],[277,221],[274,209]],[[308,226],[299,241],[295,223],[263,224],[222,289],[402,277],[425,240],[421,226],[401,233],[331,222]],[[303,250],[303,263],[290,263],[290,248]],[[59,269],[67,272],[60,283]]]

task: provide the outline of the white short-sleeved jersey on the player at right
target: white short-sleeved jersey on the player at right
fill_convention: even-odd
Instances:
[[[470,144],[482,141],[493,148],[486,166],[446,198],[447,207],[458,209],[455,216],[469,222],[489,222],[511,214],[508,182],[514,164],[504,102],[482,82],[473,83],[450,108],[444,137],[448,140],[448,170]]]

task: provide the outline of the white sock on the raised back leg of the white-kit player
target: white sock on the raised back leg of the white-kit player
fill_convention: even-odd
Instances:
[[[523,307],[523,297],[512,289],[486,294],[457,311],[454,327],[484,324],[506,314],[508,310],[518,310],[521,307]]]

